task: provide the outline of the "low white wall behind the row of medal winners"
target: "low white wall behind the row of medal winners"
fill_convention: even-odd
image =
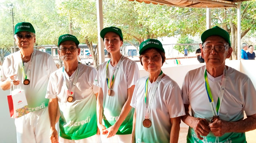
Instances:
[[[167,67],[163,68],[163,72],[170,76],[175,82],[178,83],[178,85],[181,87],[184,77],[186,73],[190,70],[196,69],[200,66],[203,66],[202,64],[194,64],[194,65],[188,65],[188,66],[175,66],[175,67]],[[247,74],[250,79],[252,80],[254,86],[256,87],[256,60],[246,60],[246,61],[240,61],[240,60],[226,60],[226,65],[230,66],[238,71],[241,71],[242,73]],[[148,73],[145,70],[140,70],[140,77],[147,76]],[[0,95],[3,97],[0,100],[0,143],[14,143],[16,142],[16,130],[14,126],[14,119],[10,118],[9,114],[9,107],[7,104],[7,97],[6,95],[9,94],[9,91],[3,91],[0,90]]]

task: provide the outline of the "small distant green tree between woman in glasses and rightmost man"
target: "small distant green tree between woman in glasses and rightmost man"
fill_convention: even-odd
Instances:
[[[177,41],[178,44],[193,44],[194,43],[194,40],[191,39],[189,36],[180,36],[178,38],[178,41]],[[184,54],[184,49],[187,47],[187,50],[188,52],[193,52],[195,51],[195,47],[192,46],[192,45],[175,45],[174,46],[174,49],[175,50],[178,50],[179,53],[183,53]]]

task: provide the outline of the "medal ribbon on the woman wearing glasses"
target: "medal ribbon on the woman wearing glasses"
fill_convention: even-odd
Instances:
[[[160,74],[158,75],[157,77],[157,80],[155,81],[155,85],[154,87],[152,88],[152,91],[150,93],[151,95],[151,98],[150,98],[150,102],[148,103],[148,108],[147,108],[147,94],[148,94],[148,80],[149,80],[149,77],[147,78],[146,80],[146,83],[145,83],[145,105],[146,105],[146,113],[145,113],[145,119],[149,119],[149,115],[150,115],[150,109],[151,109],[151,104],[153,102],[153,98],[155,96],[155,92],[157,91],[157,86],[161,80],[161,78],[163,77],[163,71],[161,70]]]

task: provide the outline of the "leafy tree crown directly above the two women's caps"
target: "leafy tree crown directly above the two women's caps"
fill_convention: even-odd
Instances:
[[[128,0],[107,0],[103,5],[105,27],[121,28],[124,40],[134,46],[149,38],[168,36],[174,22],[169,18],[168,6]]]

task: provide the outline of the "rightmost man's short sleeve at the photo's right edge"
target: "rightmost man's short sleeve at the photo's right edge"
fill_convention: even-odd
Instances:
[[[256,90],[250,78],[243,84],[244,111],[247,116],[256,114]]]

